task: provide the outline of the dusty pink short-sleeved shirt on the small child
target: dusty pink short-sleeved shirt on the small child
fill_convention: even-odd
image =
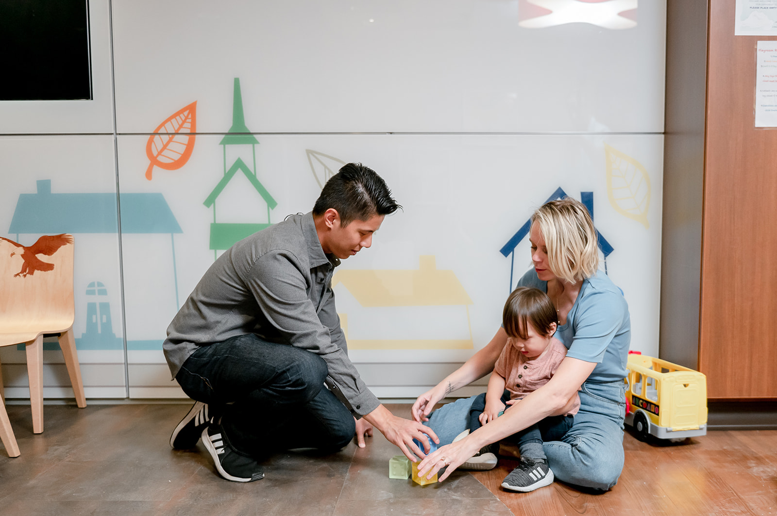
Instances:
[[[557,338],[551,338],[542,355],[532,360],[508,343],[502,349],[493,370],[504,378],[504,388],[510,391],[510,400],[521,400],[548,383],[565,356],[566,348]],[[577,394],[575,397],[575,404],[566,415],[577,414],[580,409],[580,397]]]

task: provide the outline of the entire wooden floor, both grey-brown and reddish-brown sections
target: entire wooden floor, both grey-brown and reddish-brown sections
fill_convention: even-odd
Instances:
[[[390,405],[409,414],[409,405]],[[390,480],[399,450],[376,435],[326,456],[287,453],[266,477],[241,484],[216,476],[200,443],[169,448],[169,433],[189,409],[180,404],[47,405],[45,431],[33,435],[30,407],[9,417],[22,455],[0,447],[0,514],[777,514],[777,431],[713,431],[672,445],[625,435],[618,485],[594,494],[563,483],[512,493],[500,483],[517,463],[489,472],[455,472],[420,487]]]

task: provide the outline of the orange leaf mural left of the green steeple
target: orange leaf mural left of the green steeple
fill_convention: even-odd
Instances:
[[[177,170],[189,161],[197,132],[197,101],[173,113],[154,132],[162,134],[152,134],[146,143],[146,155],[151,160],[146,169],[148,181],[154,167]]]

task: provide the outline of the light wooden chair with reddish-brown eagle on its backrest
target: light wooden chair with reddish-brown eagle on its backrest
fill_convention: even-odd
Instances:
[[[73,336],[73,237],[44,235],[30,247],[0,237],[0,293],[0,346],[25,345],[33,433],[40,434],[44,431],[44,334],[59,334],[75,402],[86,407]],[[5,449],[10,450],[8,445]]]

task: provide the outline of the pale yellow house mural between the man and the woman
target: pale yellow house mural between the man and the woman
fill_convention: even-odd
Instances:
[[[416,270],[345,270],[332,288],[349,349],[472,349],[472,299],[434,256]]]

